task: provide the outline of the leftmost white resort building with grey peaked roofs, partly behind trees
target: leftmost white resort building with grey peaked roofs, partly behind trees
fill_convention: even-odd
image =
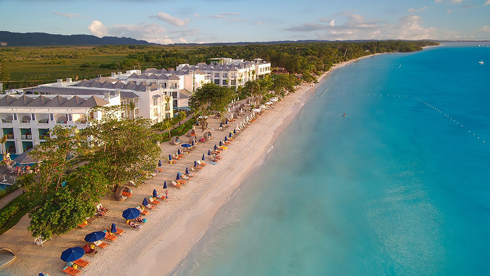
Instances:
[[[87,119],[102,117],[94,106],[119,105],[121,96],[110,95],[0,95],[0,128],[7,135],[4,147],[11,154],[22,152],[49,138],[55,125],[87,127]]]

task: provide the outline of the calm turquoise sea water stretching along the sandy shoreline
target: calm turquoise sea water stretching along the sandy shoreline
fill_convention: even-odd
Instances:
[[[489,65],[446,44],[327,75],[175,275],[490,275]]]

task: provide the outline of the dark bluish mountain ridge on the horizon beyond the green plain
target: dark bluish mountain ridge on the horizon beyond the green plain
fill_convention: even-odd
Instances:
[[[0,31],[0,46],[59,46],[59,45],[155,45],[145,40],[129,37],[104,36],[99,38],[88,34],[49,34],[44,32]]]

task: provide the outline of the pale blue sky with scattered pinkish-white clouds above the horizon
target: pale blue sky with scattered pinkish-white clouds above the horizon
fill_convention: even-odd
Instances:
[[[158,44],[490,40],[490,0],[0,0],[0,30]]]

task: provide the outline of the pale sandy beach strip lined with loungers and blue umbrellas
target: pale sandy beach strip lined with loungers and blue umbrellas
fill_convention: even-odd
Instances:
[[[373,55],[369,55],[373,56]],[[368,57],[368,56],[366,56]],[[319,81],[332,72],[357,59],[334,66],[329,72],[321,75]],[[125,232],[114,243],[105,249],[99,249],[95,257],[84,256],[90,265],[82,269],[82,275],[169,275],[175,270],[182,258],[200,237],[206,232],[218,210],[240,188],[241,183],[263,162],[270,147],[289,123],[301,111],[311,98],[310,91],[315,89],[309,84],[302,84],[295,93],[289,94],[273,110],[266,110],[247,126],[243,132],[221,153],[217,165],[210,163],[208,150],[224,138],[229,131],[246,116],[225,130],[218,130],[220,121],[209,119],[213,138],[199,143],[196,150],[186,154],[176,164],[164,164],[164,170],[148,179],[146,183],[133,189],[133,196],[123,202],[115,201],[114,196],[105,197],[100,202],[111,211],[105,218],[99,218],[84,229],[73,229],[61,237],[52,237],[44,246],[33,243],[34,238],[27,231],[29,219],[23,217],[19,224],[0,236],[0,247],[12,249],[17,260],[0,270],[0,275],[37,275],[40,272],[50,275],[65,275],[60,272],[65,266],[59,256],[69,247],[84,246],[83,238],[92,231],[100,231],[111,223]],[[247,115],[250,115],[248,112]],[[213,129],[214,128],[214,129]],[[197,136],[202,136],[196,128]],[[187,137],[181,137],[187,140]],[[161,156],[168,156],[180,147],[162,143]],[[194,160],[200,160],[206,154],[207,166],[189,180],[181,189],[170,185],[178,171],[185,172]],[[121,214],[128,207],[136,207],[144,197],[150,197],[153,189],[165,194],[163,182],[167,181],[169,199],[156,206],[147,215],[148,222],[141,230],[133,230],[125,225]]]

